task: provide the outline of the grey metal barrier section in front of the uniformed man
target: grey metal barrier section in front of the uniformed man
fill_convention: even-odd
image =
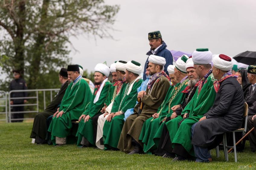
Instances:
[[[60,89],[35,89],[35,90],[11,90],[8,93],[8,101],[9,101],[9,117],[7,116],[7,101],[6,103],[6,122],[11,122],[12,120],[29,120],[29,119],[34,119],[34,118],[12,118],[12,114],[21,114],[21,113],[38,113],[39,112],[39,100],[38,100],[38,92],[43,92],[43,108],[46,109],[46,96],[45,96],[45,92],[46,91],[50,91],[50,101],[52,101],[53,99],[53,91],[59,91]],[[29,96],[29,97],[11,97],[12,93],[17,93],[17,92],[36,92],[36,96]],[[5,93],[5,94],[7,94]],[[30,103],[30,104],[18,104],[18,105],[11,105],[10,102],[11,100],[15,100],[15,99],[36,99],[36,103]],[[0,98],[1,100],[1,98]],[[6,96],[6,100],[7,100],[7,96]],[[1,105],[0,105],[1,106]],[[36,110],[33,111],[12,111],[11,107],[18,107],[18,106],[37,106]]]

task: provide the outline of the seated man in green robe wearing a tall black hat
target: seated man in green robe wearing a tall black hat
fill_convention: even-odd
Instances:
[[[66,137],[70,135],[72,121],[78,120],[86,105],[91,100],[91,90],[86,81],[79,75],[78,65],[68,65],[68,77],[72,81],[67,88],[59,111],[53,114],[48,131],[54,145],[66,144]]]

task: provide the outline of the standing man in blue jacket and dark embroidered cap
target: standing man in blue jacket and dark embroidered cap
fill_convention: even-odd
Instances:
[[[149,32],[149,45],[150,45],[150,50],[149,52],[147,52],[146,55],[150,56],[151,54],[155,55],[155,56],[160,56],[160,57],[164,57],[166,64],[164,67],[164,71],[166,72],[167,75],[168,71],[167,71],[167,67],[168,65],[172,65],[172,55],[171,52],[169,50],[166,49],[167,45],[165,44],[165,42],[162,40],[162,35],[160,33],[160,31],[154,31],[154,32]],[[143,72],[143,80],[146,80],[146,66],[149,63],[149,57],[147,58],[147,61],[145,63],[145,67],[144,67],[144,72]]]

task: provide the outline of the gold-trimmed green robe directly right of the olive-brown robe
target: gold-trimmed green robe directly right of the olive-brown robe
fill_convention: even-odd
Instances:
[[[145,153],[151,153],[151,150],[157,148],[153,139],[156,136],[161,136],[162,129],[159,129],[162,124],[162,120],[168,115],[171,116],[171,107],[181,104],[185,99],[185,93],[181,93],[187,87],[188,79],[185,79],[182,83],[176,84],[175,87],[170,87],[164,102],[158,108],[159,117],[154,119],[149,118],[143,123],[143,127],[139,136],[139,140],[143,143],[143,151]],[[163,126],[161,127],[163,128]]]

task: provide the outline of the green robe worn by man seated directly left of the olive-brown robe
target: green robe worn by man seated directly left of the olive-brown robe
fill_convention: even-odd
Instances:
[[[142,79],[136,80],[133,84],[132,90],[129,95],[127,95],[128,89],[131,83],[123,84],[120,93],[114,99],[114,103],[111,109],[111,113],[117,111],[126,112],[127,109],[133,108],[137,101],[137,89],[140,87]],[[124,114],[115,116],[111,122],[107,120],[103,126],[103,141],[105,149],[117,148],[119,137],[123,128]],[[110,147],[109,147],[110,146]]]

